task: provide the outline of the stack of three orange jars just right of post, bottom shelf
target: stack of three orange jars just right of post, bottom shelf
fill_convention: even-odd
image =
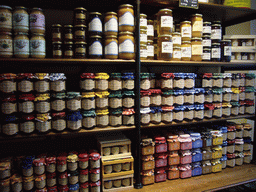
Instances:
[[[154,169],[155,169],[155,143],[151,138],[145,138],[141,141],[141,182],[143,185],[155,183]]]

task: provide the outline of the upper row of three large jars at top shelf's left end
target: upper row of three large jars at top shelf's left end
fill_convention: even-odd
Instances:
[[[29,13],[27,8],[0,5],[2,19],[0,32],[45,33],[45,16],[41,8],[32,8]]]

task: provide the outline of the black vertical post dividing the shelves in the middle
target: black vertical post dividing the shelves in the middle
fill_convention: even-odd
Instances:
[[[136,71],[135,71],[135,126],[136,126],[136,147],[135,147],[135,161],[134,161],[134,178],[135,184],[134,188],[141,189],[141,166],[140,166],[140,156],[141,156],[141,125],[140,125],[140,0],[136,0],[136,11],[135,11],[135,62],[136,62]]]

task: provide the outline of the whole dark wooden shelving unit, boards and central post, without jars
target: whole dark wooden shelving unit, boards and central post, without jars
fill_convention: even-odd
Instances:
[[[99,11],[99,12],[107,12],[107,11],[116,11],[120,4],[130,3],[134,4],[134,1],[120,1],[120,0],[112,0],[110,1],[102,1],[102,0],[94,0],[94,1],[82,1],[82,0],[64,0],[60,4],[59,2],[43,0],[40,2],[27,2],[25,0],[17,1],[11,0],[8,4],[12,7],[16,5],[23,5],[25,7],[41,7],[47,10],[46,15],[46,22],[50,20],[50,13],[53,12],[52,9],[59,11],[65,10],[66,12],[71,15],[71,10],[75,7],[83,6],[87,8],[88,11]],[[135,13],[139,15],[141,13],[146,13],[148,15],[152,15],[152,13],[157,13],[157,11],[161,8],[169,7],[173,10],[173,15],[175,20],[182,18],[182,14],[184,16],[188,16],[192,13],[202,13],[204,15],[205,20],[212,21],[212,20],[221,20],[223,24],[223,28],[226,26],[230,26],[233,24],[242,23],[245,21],[256,19],[256,10],[254,9],[245,9],[245,8],[235,8],[235,7],[228,7],[223,5],[216,5],[216,4],[205,4],[199,3],[199,9],[186,9],[186,8],[179,8],[178,1],[167,1],[162,0],[158,1],[162,3],[157,3],[156,0],[136,0],[135,5]],[[168,2],[168,3],[166,3]],[[180,11],[186,9],[186,12]],[[69,18],[70,20],[70,18]],[[50,25],[52,22],[55,22],[54,18],[47,26],[47,39],[50,39]],[[56,19],[56,22],[63,22],[62,20]],[[137,50],[140,47],[139,44],[139,17],[136,17],[136,34],[137,37]],[[50,44],[50,43],[49,43]],[[27,72],[28,69],[31,72],[68,72],[69,74],[75,73],[78,74],[81,71],[88,71],[88,72],[108,72],[108,71],[116,71],[117,69],[122,70],[130,70],[135,72],[136,74],[136,85],[140,84],[139,74],[143,71],[154,71],[155,68],[168,68],[168,70],[177,67],[184,67],[187,70],[194,67],[195,72],[200,68],[200,70],[208,70],[216,69],[217,71],[222,71],[226,68],[232,68],[236,70],[241,69],[256,69],[256,63],[244,63],[244,62],[236,62],[236,63],[228,63],[228,62],[173,62],[173,61],[160,61],[160,60],[146,60],[140,61],[140,52],[136,52],[136,59],[135,60],[107,60],[107,59],[53,59],[53,58],[46,58],[46,59],[3,59],[0,58],[0,70],[2,73],[4,72]],[[25,66],[25,67],[24,67]],[[178,68],[179,69],[179,68]],[[177,69],[176,69],[177,70]],[[75,87],[77,88],[77,87]],[[140,106],[140,89],[139,86],[136,86],[136,106]],[[133,142],[133,148],[135,149],[133,152],[134,156],[134,179],[135,179],[135,187],[141,188],[142,184],[140,182],[140,137],[141,137],[141,130],[147,128],[161,128],[161,127],[172,127],[172,126],[180,126],[180,125],[191,125],[191,124],[199,124],[199,123],[207,123],[207,122],[219,122],[225,121],[230,119],[237,119],[237,118],[254,118],[255,115],[240,115],[240,116],[231,116],[228,118],[220,118],[220,119],[209,119],[209,120],[202,120],[202,121],[191,121],[191,122],[181,122],[181,123],[171,123],[171,124],[158,124],[158,125],[147,125],[141,126],[140,125],[140,107],[136,107],[136,125],[135,126],[121,126],[121,127],[106,127],[106,128],[95,128],[92,130],[80,130],[79,132],[69,132],[64,131],[62,133],[54,133],[51,132],[46,135],[38,135],[32,134],[29,136],[24,135],[17,135],[14,137],[0,137],[1,144],[7,144],[15,142],[17,145],[19,142],[23,142],[24,140],[28,140],[31,142],[41,142],[45,140],[54,140],[55,138],[61,139],[62,137],[78,137],[78,136],[85,136],[90,134],[97,134],[99,132],[112,132],[112,131],[130,131],[127,134],[132,136],[136,136]],[[0,153],[2,150],[0,151]],[[14,152],[15,153],[15,152]],[[154,188],[161,188],[163,190],[171,190],[171,189],[180,189],[180,190],[209,190],[216,187],[222,187],[225,185],[233,185],[235,183],[247,182],[256,180],[255,177],[256,166],[255,165],[243,165],[241,167],[235,167],[233,169],[226,169],[221,173],[204,175],[200,177],[195,177],[186,180],[186,185],[184,185],[184,180],[174,180],[168,181],[165,183],[155,184]],[[235,178],[233,181],[230,181],[229,178],[232,176]],[[239,178],[241,176],[241,178]],[[220,182],[222,181],[222,182]],[[225,181],[225,182],[223,182]],[[219,183],[218,183],[219,182]],[[196,185],[195,185],[196,183]],[[130,190],[129,190],[130,191]],[[150,191],[149,187],[145,187],[141,190],[133,190],[133,191]]]

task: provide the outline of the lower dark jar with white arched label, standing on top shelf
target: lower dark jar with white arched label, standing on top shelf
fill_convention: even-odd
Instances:
[[[100,59],[103,55],[101,36],[90,36],[89,42],[89,58]]]

